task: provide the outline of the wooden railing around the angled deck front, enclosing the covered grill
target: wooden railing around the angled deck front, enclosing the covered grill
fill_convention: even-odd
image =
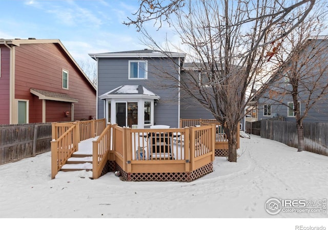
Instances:
[[[214,125],[182,129],[108,127],[112,127],[113,141],[109,152],[127,173],[191,172],[214,160]],[[100,152],[94,145],[93,157],[99,159]],[[99,175],[103,169],[97,170]]]

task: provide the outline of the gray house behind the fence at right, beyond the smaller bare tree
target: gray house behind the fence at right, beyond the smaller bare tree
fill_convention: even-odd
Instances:
[[[328,40],[326,36],[319,36],[310,37],[309,41],[309,45],[300,52],[303,54],[300,58],[306,60],[293,61],[293,65],[300,65],[293,70],[299,74],[296,80],[299,81],[297,97],[300,114],[303,114],[306,104],[311,105],[316,100],[316,103],[310,108],[308,116],[304,118],[304,122],[328,122],[328,90],[326,89],[325,93],[318,98],[328,81],[328,64],[326,62]],[[315,49],[320,50],[315,52]],[[287,71],[289,71],[288,68]],[[291,77],[287,77],[287,74],[279,72],[273,75],[268,82],[268,88],[260,89],[264,91],[263,95],[253,101],[253,105],[257,106],[258,120],[280,116],[285,121],[295,121]]]

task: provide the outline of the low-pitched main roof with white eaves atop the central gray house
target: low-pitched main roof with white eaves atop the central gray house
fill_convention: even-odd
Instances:
[[[111,53],[98,53],[98,54],[89,54],[90,57],[96,60],[96,58],[151,58],[151,57],[181,57],[185,58],[186,54],[176,53],[176,52],[162,52],[158,50],[133,50],[133,51],[120,51],[120,52],[111,52]]]

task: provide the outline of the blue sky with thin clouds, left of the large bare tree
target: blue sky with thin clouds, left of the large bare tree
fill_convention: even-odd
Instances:
[[[0,0],[0,38],[59,39],[73,58],[89,53],[145,49],[135,27],[123,25],[138,8],[138,0]],[[160,32],[149,25],[160,41]]]

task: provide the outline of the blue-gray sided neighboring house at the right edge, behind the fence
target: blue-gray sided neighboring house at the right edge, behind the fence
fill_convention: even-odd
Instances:
[[[323,45],[324,47],[328,47],[328,40],[326,40],[325,36],[319,36],[316,37],[316,39],[310,39],[314,42],[320,42],[320,46]],[[311,44],[311,43],[310,43]],[[312,46],[310,45],[307,49],[312,49]],[[306,50],[305,49],[305,53]],[[326,50],[326,49],[325,49]],[[301,115],[304,112],[305,104],[311,103],[313,100],[316,100],[317,95],[315,91],[322,90],[321,86],[327,84],[328,82],[328,71],[325,70],[325,72],[322,75],[322,77],[318,78],[318,68],[319,64],[318,62],[322,63],[320,64],[320,68],[326,68],[328,66],[327,64],[327,58],[328,58],[328,51],[324,51],[323,53],[320,53],[319,58],[314,59],[315,61],[309,61],[306,63],[302,68],[300,68],[300,71],[303,71],[304,73],[312,73],[310,76],[314,76],[313,78],[307,78],[304,74],[304,78],[302,79],[303,82],[305,82],[303,85],[300,84],[299,86],[299,96],[298,96],[298,102],[300,105],[300,113]],[[307,57],[307,56],[306,56]],[[318,67],[316,67],[316,65]],[[313,67],[314,66],[314,67]],[[307,69],[306,69],[307,68]],[[314,74],[313,74],[314,73]],[[318,81],[319,84],[318,84]],[[318,86],[312,85],[317,84]],[[288,78],[280,77],[279,80],[275,83],[269,83],[270,87],[265,90],[265,93],[261,98],[259,98],[254,103],[257,106],[257,116],[258,120],[264,120],[269,118],[274,118],[281,116],[284,118],[285,121],[295,121],[295,113],[293,111],[294,103],[292,96],[289,93],[286,93],[288,91],[291,91],[292,85],[289,83]],[[282,94],[277,94],[277,92],[281,92]],[[311,98],[309,100],[309,92],[311,93]],[[283,92],[285,94],[283,94]],[[274,100],[271,100],[270,98],[273,98]],[[322,95],[320,100],[318,100],[314,106],[309,110],[308,116],[304,118],[304,122],[328,122],[328,95]]]

